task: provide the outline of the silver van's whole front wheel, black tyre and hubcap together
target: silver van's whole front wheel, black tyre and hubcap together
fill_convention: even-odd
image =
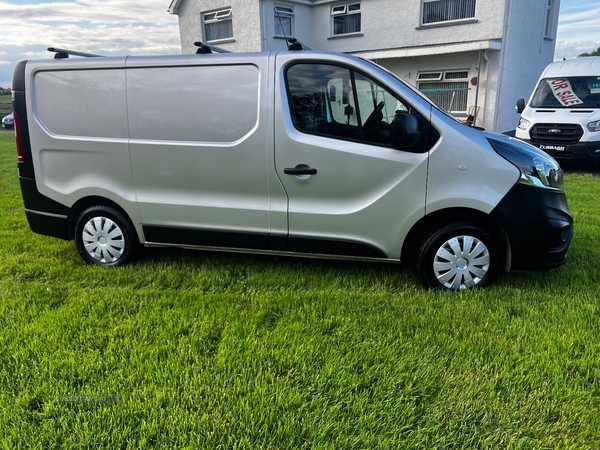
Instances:
[[[500,254],[494,239],[479,225],[456,222],[425,237],[415,269],[426,286],[443,290],[482,288],[499,273]]]

